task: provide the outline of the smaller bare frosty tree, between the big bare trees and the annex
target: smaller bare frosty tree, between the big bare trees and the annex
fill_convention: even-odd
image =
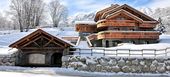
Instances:
[[[59,23],[67,23],[68,10],[59,3],[59,0],[52,0],[49,3],[49,12],[53,27],[58,27]]]

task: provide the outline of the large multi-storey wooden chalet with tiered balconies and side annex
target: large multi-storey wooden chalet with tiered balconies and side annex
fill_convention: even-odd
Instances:
[[[159,41],[155,19],[124,4],[111,5],[96,13],[96,24],[77,23],[76,31],[87,35],[93,47],[112,47],[119,43],[149,44]]]

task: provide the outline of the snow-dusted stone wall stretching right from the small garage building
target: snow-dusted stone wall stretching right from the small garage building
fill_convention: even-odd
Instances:
[[[63,67],[90,72],[169,73],[170,58],[63,56]]]

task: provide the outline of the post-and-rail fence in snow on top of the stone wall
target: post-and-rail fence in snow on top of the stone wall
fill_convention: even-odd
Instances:
[[[159,57],[170,56],[170,47],[165,49],[77,49],[74,55],[79,56],[127,56],[127,57]]]

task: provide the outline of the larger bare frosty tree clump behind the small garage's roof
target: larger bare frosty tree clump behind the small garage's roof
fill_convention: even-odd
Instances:
[[[42,0],[11,0],[10,7],[21,32],[39,26],[44,10]]]

